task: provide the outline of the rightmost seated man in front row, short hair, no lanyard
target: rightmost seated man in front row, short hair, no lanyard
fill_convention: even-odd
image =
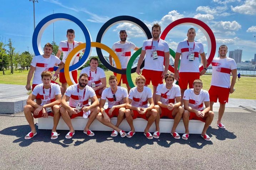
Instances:
[[[210,99],[209,93],[206,90],[202,90],[202,80],[196,79],[193,82],[194,89],[187,89],[184,92],[184,108],[183,122],[185,127],[185,134],[182,139],[187,140],[189,138],[189,120],[195,119],[205,122],[204,129],[201,133],[201,137],[207,141],[211,138],[206,134],[213,118],[214,112],[210,111]],[[205,109],[204,109],[205,103]]]

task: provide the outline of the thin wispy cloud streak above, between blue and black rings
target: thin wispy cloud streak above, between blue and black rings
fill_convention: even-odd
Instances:
[[[99,15],[94,14],[92,12],[89,12],[86,9],[83,9],[83,8],[74,8],[74,7],[65,6],[61,2],[59,2],[58,0],[44,0],[44,1],[50,2],[52,4],[59,5],[63,8],[65,8],[65,9],[69,9],[69,10],[72,10],[72,11],[85,12],[86,14],[89,14],[91,16],[91,19],[87,19],[87,21],[90,21],[90,22],[105,23],[106,21],[108,21],[110,19],[107,16],[99,16]]]

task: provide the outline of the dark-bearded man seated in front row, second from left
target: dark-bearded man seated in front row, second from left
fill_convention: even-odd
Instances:
[[[72,138],[75,134],[71,119],[77,116],[83,116],[84,118],[89,117],[84,133],[88,136],[94,136],[94,133],[89,130],[89,127],[100,112],[99,101],[96,94],[91,87],[87,86],[88,75],[85,73],[81,74],[78,81],[79,84],[73,84],[67,88],[61,100],[62,107],[60,108],[60,113],[69,127],[69,133],[66,134],[67,139]],[[91,105],[88,103],[89,98],[91,99]],[[68,100],[69,104],[67,104]]]

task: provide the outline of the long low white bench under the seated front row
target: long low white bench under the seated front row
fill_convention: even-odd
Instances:
[[[76,117],[74,119],[71,119],[72,125],[75,130],[81,130],[83,131],[85,128],[85,125],[88,121],[87,119],[84,119],[83,117]],[[112,117],[111,122],[113,124],[116,124],[117,118]],[[160,119],[160,132],[161,133],[170,133],[171,128],[173,126],[174,119]],[[133,121],[135,131],[136,132],[144,132],[144,129],[147,125],[147,121],[142,118],[136,118]],[[204,128],[205,123],[198,121],[198,120],[190,120],[189,121],[189,133],[190,134],[201,134],[202,130]],[[38,129],[52,129],[53,126],[53,117],[49,116],[48,118],[38,118]],[[119,126],[120,129],[129,132],[130,126],[127,123],[126,119],[122,121],[122,123]],[[60,118],[59,124],[57,126],[57,130],[69,130],[69,127],[67,127],[66,123],[62,118]],[[91,131],[112,131],[110,127],[105,126],[104,124],[100,123],[97,119],[92,122],[90,126]],[[156,126],[155,123],[152,124],[152,126],[149,129],[149,132],[155,132]],[[179,125],[176,128],[177,133],[185,133],[185,128],[183,121],[181,119]]]

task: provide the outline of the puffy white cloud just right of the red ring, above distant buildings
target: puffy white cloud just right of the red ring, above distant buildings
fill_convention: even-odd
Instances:
[[[212,30],[214,33],[220,33],[220,34],[226,34],[226,35],[235,35],[235,31],[238,31],[241,29],[241,25],[236,21],[219,21],[216,22],[212,26]]]

